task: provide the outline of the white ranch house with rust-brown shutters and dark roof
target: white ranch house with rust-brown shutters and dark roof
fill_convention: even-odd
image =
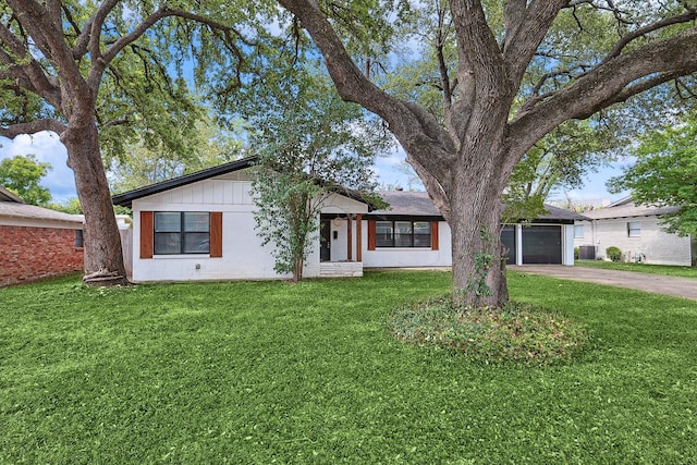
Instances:
[[[247,168],[233,161],[113,197],[133,209],[133,276],[142,281],[279,279],[270,245],[254,221]],[[362,198],[334,193],[321,208],[304,276],[355,277],[364,267],[448,267],[450,229],[425,193],[382,193],[391,209],[369,211]],[[530,227],[511,225],[510,262],[573,265],[573,223],[550,207]]]

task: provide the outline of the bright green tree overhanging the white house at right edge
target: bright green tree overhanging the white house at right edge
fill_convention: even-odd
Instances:
[[[629,189],[639,205],[680,207],[662,217],[667,230],[697,235],[697,113],[646,134],[632,151],[636,162],[608,182],[611,192]]]

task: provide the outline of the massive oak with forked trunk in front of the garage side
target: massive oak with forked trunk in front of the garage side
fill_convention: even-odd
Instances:
[[[453,296],[469,305],[508,298],[501,198],[524,155],[567,120],[697,71],[689,2],[450,0],[431,30],[455,37],[454,63],[443,54],[438,70],[440,120],[376,85],[343,40],[347,12],[378,2],[279,3],[317,44],[340,95],[382,117],[404,147],[450,224]]]

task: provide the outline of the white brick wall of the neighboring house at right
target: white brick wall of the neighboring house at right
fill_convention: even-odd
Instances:
[[[641,235],[629,237],[627,222],[641,223]],[[594,221],[579,221],[584,225],[584,237],[574,240],[576,246],[595,245],[597,256],[606,257],[606,248],[620,247],[625,258],[644,254],[647,264],[653,265],[690,265],[689,237],[669,234],[661,230],[657,217],[612,218]]]

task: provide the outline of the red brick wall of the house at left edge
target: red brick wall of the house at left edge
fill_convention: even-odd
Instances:
[[[0,225],[0,286],[82,269],[75,230]]]

